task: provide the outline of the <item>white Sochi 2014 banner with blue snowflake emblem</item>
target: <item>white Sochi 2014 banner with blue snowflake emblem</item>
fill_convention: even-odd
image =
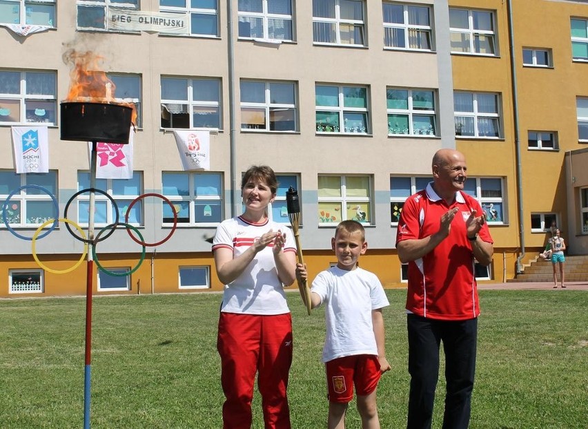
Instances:
[[[49,136],[46,126],[13,126],[12,144],[17,173],[49,172]]]

